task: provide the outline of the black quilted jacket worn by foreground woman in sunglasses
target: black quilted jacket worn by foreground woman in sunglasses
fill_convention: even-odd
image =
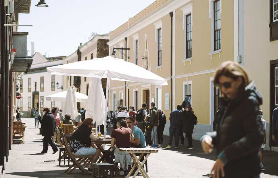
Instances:
[[[237,98],[221,101],[216,132],[210,132],[217,155],[224,151],[228,162],[225,178],[260,174],[258,157],[263,142],[259,105],[262,96],[252,81]],[[217,134],[216,134],[217,133]]]

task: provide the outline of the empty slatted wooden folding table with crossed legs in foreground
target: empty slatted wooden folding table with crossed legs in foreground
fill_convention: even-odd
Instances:
[[[144,165],[144,163],[146,162],[147,158],[150,156],[151,153],[157,153],[158,152],[157,149],[153,149],[153,148],[119,148],[119,150],[123,151],[125,153],[129,153],[129,155],[131,156],[131,158],[134,162],[134,166],[132,167],[132,169],[130,170],[130,172],[128,173],[126,178],[128,178],[132,174],[132,171],[135,169],[135,166],[138,169],[134,173],[132,178],[135,178],[139,171],[141,172],[141,174],[144,178],[150,178],[147,175],[147,172],[145,171],[145,169],[143,168],[143,165]],[[137,156],[135,155],[136,153],[141,153],[139,158],[137,158]],[[144,154],[147,154],[147,155],[144,158],[144,160],[142,162],[140,162],[140,160],[144,156]]]

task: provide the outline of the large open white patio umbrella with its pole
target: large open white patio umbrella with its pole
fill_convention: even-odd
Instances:
[[[134,63],[126,62],[111,56],[47,67],[47,72],[56,75],[107,78],[105,103],[108,101],[110,78],[112,80],[141,82],[153,85],[168,85],[166,79]],[[93,103],[97,104],[97,101]],[[107,113],[107,107],[105,107],[105,109],[105,113]],[[104,133],[106,134],[106,118],[104,121]]]

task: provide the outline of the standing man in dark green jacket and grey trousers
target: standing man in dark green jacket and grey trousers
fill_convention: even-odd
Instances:
[[[159,121],[158,121],[158,111],[156,108],[156,104],[154,102],[151,103],[151,126],[152,126],[152,131],[151,131],[151,141],[152,141],[152,146],[150,148],[158,148],[158,141],[157,141],[157,126],[159,126]]]

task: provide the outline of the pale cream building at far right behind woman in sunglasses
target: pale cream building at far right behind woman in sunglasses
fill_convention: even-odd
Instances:
[[[248,5],[250,3],[252,6]],[[278,151],[277,143],[271,138],[272,111],[278,106],[278,2],[245,0],[238,4],[235,1],[235,7],[240,7],[240,10],[235,8],[234,13],[235,34],[239,36],[234,36],[235,41],[239,39],[234,44],[235,61],[241,56],[241,64],[263,95],[261,109],[266,120],[266,149]]]

